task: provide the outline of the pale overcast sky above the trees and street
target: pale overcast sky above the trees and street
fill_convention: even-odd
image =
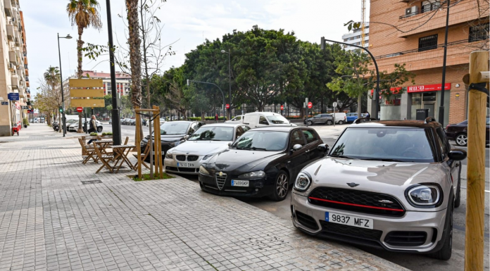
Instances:
[[[107,44],[106,1],[99,0],[103,29],[84,31],[82,39],[92,44]],[[124,0],[112,0],[113,37],[124,43]],[[369,1],[368,1],[369,2]],[[63,77],[73,75],[77,68],[77,29],[70,25],[66,13],[68,0],[20,0],[25,20],[27,58],[30,73],[30,90],[34,94],[39,79],[49,65],[58,64],[60,36],[70,34],[74,39],[60,39]],[[264,29],[279,28],[294,31],[296,37],[309,42],[320,42],[320,37],[341,41],[347,32],[344,23],[360,20],[360,0],[168,0],[158,11],[158,18],[165,24],[162,40],[172,43],[175,56],[165,59],[165,68],[184,63],[184,53],[195,49],[204,39],[221,39],[223,34],[250,30],[253,25]],[[122,18],[118,14],[123,15]],[[367,16],[369,13],[366,14]],[[115,45],[118,45],[115,41]],[[106,58],[102,58],[106,59]],[[84,70],[109,72],[107,61],[90,61],[84,58]]]

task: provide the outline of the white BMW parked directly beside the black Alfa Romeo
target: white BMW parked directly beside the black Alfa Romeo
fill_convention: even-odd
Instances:
[[[250,127],[241,123],[204,125],[191,134],[187,141],[165,153],[165,171],[198,175],[201,163],[228,149],[229,144],[248,130]]]

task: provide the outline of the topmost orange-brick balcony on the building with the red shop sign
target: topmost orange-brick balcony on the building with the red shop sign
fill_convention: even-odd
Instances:
[[[406,6],[409,8],[410,6]],[[422,13],[421,8],[418,7],[418,11],[411,13],[410,15],[402,15],[405,8],[401,10],[401,16],[396,23],[396,27],[403,32],[398,33],[398,37],[408,37],[413,34],[420,34],[431,30],[440,29],[446,27],[446,9],[439,9],[435,11],[425,11]],[[488,2],[481,2],[479,5],[480,11],[488,11]],[[430,18],[430,23],[427,22],[427,18]],[[449,25],[458,25],[460,23],[466,23],[479,18],[477,0],[460,1],[456,6],[451,7],[449,10]]]

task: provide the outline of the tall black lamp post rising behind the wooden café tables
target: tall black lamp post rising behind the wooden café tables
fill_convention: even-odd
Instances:
[[[112,37],[112,18],[111,18],[111,0],[106,0],[107,6],[107,30],[109,36],[109,63],[111,65],[111,86],[112,86],[112,128],[114,145],[121,144],[121,123],[119,118],[118,93],[115,87],[115,62],[114,62],[114,42]],[[139,142],[136,142],[139,144]]]

